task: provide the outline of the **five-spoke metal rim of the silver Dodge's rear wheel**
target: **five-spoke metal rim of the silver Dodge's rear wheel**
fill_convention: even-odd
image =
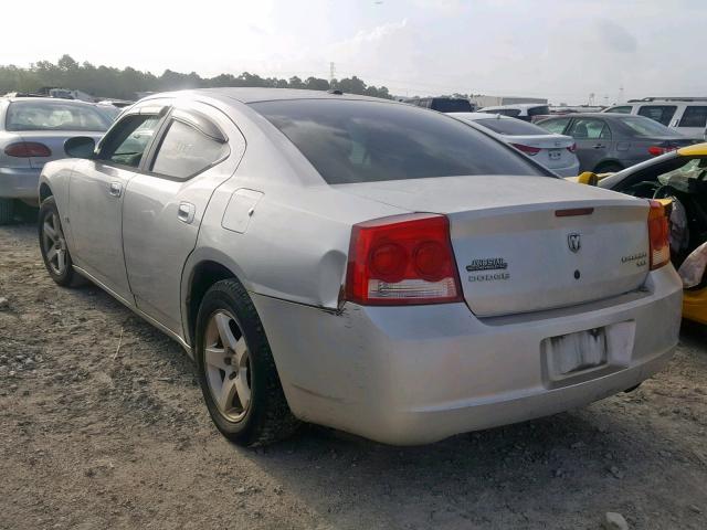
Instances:
[[[209,318],[203,361],[217,409],[231,422],[242,420],[251,404],[251,356],[245,336],[230,312],[220,310]]]

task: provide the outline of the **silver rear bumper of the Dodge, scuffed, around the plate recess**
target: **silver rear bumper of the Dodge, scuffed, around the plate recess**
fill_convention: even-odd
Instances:
[[[397,445],[555,414],[631,388],[669,360],[682,304],[669,266],[651,273],[641,292],[483,320],[464,304],[347,304],[333,314],[252,296],[294,414]],[[620,322],[631,337],[610,347],[606,365],[549,379],[544,339]]]

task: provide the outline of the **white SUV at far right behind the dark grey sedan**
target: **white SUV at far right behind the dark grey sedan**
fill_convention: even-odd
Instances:
[[[654,119],[689,138],[705,139],[707,97],[646,97],[630,99],[603,110],[615,114],[637,114]]]

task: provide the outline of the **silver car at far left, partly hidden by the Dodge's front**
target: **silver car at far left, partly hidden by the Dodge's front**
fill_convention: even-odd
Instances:
[[[0,97],[0,224],[12,220],[15,200],[36,203],[40,172],[46,162],[66,157],[66,139],[98,139],[112,121],[89,103]]]

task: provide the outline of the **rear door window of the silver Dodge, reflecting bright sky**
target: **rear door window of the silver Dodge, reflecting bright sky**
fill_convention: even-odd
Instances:
[[[152,172],[188,179],[221,161],[228,146],[194,127],[172,120],[152,163]]]

